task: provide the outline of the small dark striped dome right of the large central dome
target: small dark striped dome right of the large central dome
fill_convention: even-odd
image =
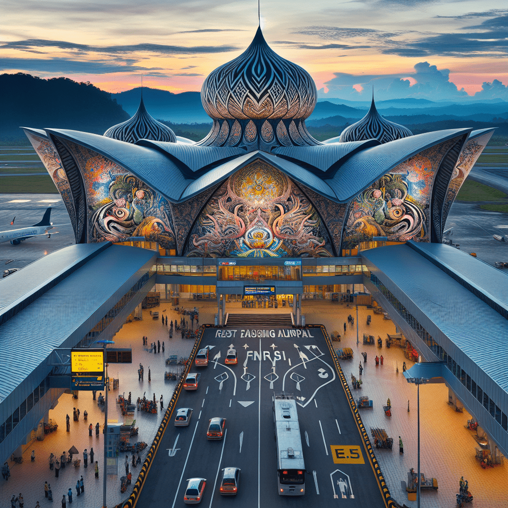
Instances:
[[[377,139],[382,143],[388,143],[408,136],[412,136],[412,132],[404,125],[391,122],[377,112],[374,97],[372,97],[368,113],[361,120],[346,127],[340,135],[339,142]]]

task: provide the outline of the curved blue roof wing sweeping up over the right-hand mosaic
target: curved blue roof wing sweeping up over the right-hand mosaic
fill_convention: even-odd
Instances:
[[[346,202],[413,155],[469,132],[471,129],[428,132],[367,148],[348,158],[327,183],[338,200]]]

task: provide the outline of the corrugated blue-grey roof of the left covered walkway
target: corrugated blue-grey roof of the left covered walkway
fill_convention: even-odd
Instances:
[[[0,358],[4,371],[9,372],[0,383],[0,399],[5,399],[36,367],[46,361],[54,348],[75,346],[82,336],[72,344],[66,340],[158,254],[153,250],[105,243],[109,244],[108,248],[0,327]],[[78,245],[63,248],[51,256],[58,253],[65,255],[62,251],[69,250],[69,257],[72,258],[74,247]],[[40,261],[44,266],[46,258]],[[37,263],[31,266],[36,268]],[[29,285],[29,279],[36,273],[35,269],[26,272],[20,270],[16,273],[19,275],[18,283],[23,285],[24,279],[24,285]],[[126,288],[125,293],[129,289]],[[22,360],[20,352],[23,352]]]

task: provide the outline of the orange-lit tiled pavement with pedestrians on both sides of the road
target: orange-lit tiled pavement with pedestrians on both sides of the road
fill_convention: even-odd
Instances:
[[[182,305],[186,308],[194,307],[194,302],[186,302],[180,299]],[[200,302],[200,323],[213,323],[213,314],[216,312],[216,304],[213,302]],[[269,312],[264,309],[241,309],[239,305],[229,305],[228,310],[232,312]],[[170,319],[179,321],[180,316],[176,312],[170,311],[169,303],[162,303],[157,308],[160,313],[166,314]],[[290,309],[288,309],[290,311]],[[330,302],[304,301],[303,313],[306,315],[307,323],[323,324],[330,332],[338,330],[343,331],[343,323],[347,314],[355,316],[355,308],[346,308],[343,304],[332,304]],[[366,325],[367,314],[372,315],[372,323]],[[133,322],[123,326],[116,334],[116,347],[132,347],[132,364],[111,364],[109,374],[111,377],[120,379],[119,390],[110,392],[109,399],[109,420],[122,421],[115,399],[118,393],[128,395],[132,392],[133,400],[142,397],[146,391],[146,396],[156,399],[164,395],[165,404],[169,401],[173,388],[173,382],[164,382],[164,371],[167,369],[164,359],[170,354],[187,356],[192,348],[192,343],[182,340],[179,334],[174,334],[169,339],[166,327],[161,325],[160,319],[153,321],[147,310],[143,311],[144,319],[140,322]],[[336,347],[349,346],[355,353],[354,360],[342,361],[341,366],[347,379],[351,378],[351,372],[358,375],[358,363],[362,360],[362,366],[365,370],[362,374],[363,387],[359,391],[353,390],[355,396],[368,395],[374,401],[373,409],[362,409],[362,419],[365,427],[371,426],[385,428],[388,434],[394,437],[394,449],[375,450],[376,457],[382,468],[390,492],[394,499],[401,505],[405,503],[411,508],[416,508],[416,501],[408,501],[405,491],[401,489],[400,482],[407,478],[407,471],[410,467],[417,467],[417,404],[416,387],[406,383],[402,375],[402,362],[405,361],[407,367],[411,362],[404,358],[403,350],[392,346],[387,349],[385,345],[381,351],[376,345],[363,345],[363,333],[369,333],[386,337],[386,333],[395,333],[395,326],[391,321],[383,320],[382,316],[373,314],[365,307],[359,307],[359,339],[360,344],[356,344],[356,323],[354,328],[348,327],[342,341],[334,342]],[[148,342],[160,340],[165,342],[165,354],[154,355],[144,351],[141,337],[148,336]],[[367,364],[363,363],[361,352],[367,352]],[[376,367],[374,357],[382,353],[384,356],[384,365]],[[144,381],[138,382],[137,369],[141,361],[145,367]],[[397,366],[399,372],[396,372]],[[148,383],[148,368],[150,368],[151,382]],[[392,417],[385,416],[383,404],[390,397],[392,402]],[[409,400],[409,409],[407,412],[407,401]],[[72,417],[72,408],[76,406],[81,409],[79,422],[73,422],[71,418],[71,432],[65,431],[65,415],[69,413]],[[83,411],[88,411],[88,421],[83,421]],[[48,434],[44,441],[35,441],[33,445],[24,453],[22,464],[10,463],[12,477],[8,482],[0,480],[2,487],[0,489],[0,507],[9,506],[9,500],[12,494],[18,495],[22,492],[25,500],[25,506],[31,508],[39,501],[41,506],[50,505],[44,497],[44,482],[48,481],[52,486],[53,500],[59,503],[63,492],[67,492],[69,487],[74,487],[77,478],[82,474],[85,481],[84,496],[76,497],[74,489],[75,508],[79,506],[96,508],[102,506],[102,465],[103,465],[103,434],[99,438],[95,434],[90,438],[87,432],[87,426],[91,422],[104,422],[104,414],[98,409],[97,404],[92,401],[91,392],[81,392],[79,399],[74,400],[71,395],[63,395],[54,410],[50,411],[49,418],[58,423],[58,430]],[[162,414],[148,415],[144,412],[134,415],[136,425],[139,426],[139,439],[150,443],[153,439],[156,429],[162,420]],[[469,481],[470,491],[474,496],[473,506],[476,508],[506,508],[508,500],[506,495],[506,480],[508,479],[508,463],[495,468],[482,469],[474,459],[475,441],[471,432],[464,428],[470,416],[466,413],[458,413],[448,405],[448,389],[444,385],[424,385],[420,390],[420,426],[421,426],[421,468],[427,477],[437,478],[439,489],[437,491],[425,491],[422,493],[422,508],[442,508],[443,506],[454,506],[455,494],[458,492],[458,481],[463,475]],[[402,436],[404,442],[404,454],[398,453],[398,436]],[[133,441],[133,440],[132,440]],[[48,457],[51,452],[56,453],[68,450],[72,445],[80,451],[90,446],[96,453],[95,458],[100,464],[100,479],[94,479],[93,468],[67,467],[60,470],[59,478],[54,477],[54,471],[49,470]],[[36,450],[36,461],[30,463],[30,452]],[[161,451],[160,451],[161,452]],[[164,451],[162,451],[164,453]],[[146,454],[146,449],[142,458]],[[129,494],[125,492],[120,494],[120,476],[123,472],[124,454],[119,455],[118,475],[108,475],[108,506],[114,506],[116,503],[126,498]],[[133,477],[136,478],[139,472],[139,466],[134,469]],[[153,474],[153,471],[152,471]],[[133,479],[134,479],[133,478]]]

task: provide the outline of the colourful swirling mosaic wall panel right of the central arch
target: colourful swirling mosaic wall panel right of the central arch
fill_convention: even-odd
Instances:
[[[379,178],[350,203],[341,248],[386,236],[388,241],[429,241],[434,175],[452,140],[423,150]]]

